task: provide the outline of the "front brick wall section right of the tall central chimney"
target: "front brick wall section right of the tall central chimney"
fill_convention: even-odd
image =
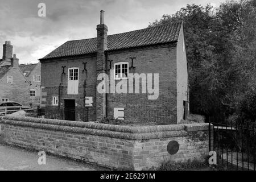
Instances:
[[[130,69],[130,73],[159,73],[159,97],[157,100],[148,100],[148,94],[143,93],[108,94],[108,115],[113,116],[114,107],[124,107],[125,120],[130,122],[177,123],[176,47],[151,47],[108,53],[108,59],[113,60],[113,65],[129,62],[131,67],[129,57],[136,57],[133,65],[135,69]]]

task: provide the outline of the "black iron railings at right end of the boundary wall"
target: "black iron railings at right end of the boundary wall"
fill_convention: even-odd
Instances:
[[[213,132],[209,130],[209,142],[213,136],[213,143],[209,143],[209,151],[216,152],[217,164],[228,169],[255,171],[255,127],[209,122],[209,129],[210,125]]]

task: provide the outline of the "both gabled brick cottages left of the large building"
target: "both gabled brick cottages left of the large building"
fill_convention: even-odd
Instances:
[[[11,42],[3,44],[0,59],[0,102],[15,101],[40,106],[41,64],[21,64],[14,55]]]

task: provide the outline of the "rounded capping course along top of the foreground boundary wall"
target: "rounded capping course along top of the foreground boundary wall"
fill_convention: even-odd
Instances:
[[[118,126],[94,122],[63,121],[57,119],[43,119],[31,117],[14,117],[12,115],[3,118],[1,123],[7,125],[18,125],[35,127],[53,131],[66,131],[72,133],[100,135],[112,138],[145,140],[154,138],[179,137],[187,135],[183,125],[162,126]],[[196,126],[197,128],[200,126]],[[187,127],[192,130],[192,126]]]

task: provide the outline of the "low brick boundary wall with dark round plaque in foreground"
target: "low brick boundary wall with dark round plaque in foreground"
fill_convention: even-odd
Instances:
[[[169,159],[203,162],[209,150],[208,123],[131,127],[13,115],[0,123],[8,144],[118,169],[157,167]],[[179,143],[174,155],[167,152],[171,140]]]

